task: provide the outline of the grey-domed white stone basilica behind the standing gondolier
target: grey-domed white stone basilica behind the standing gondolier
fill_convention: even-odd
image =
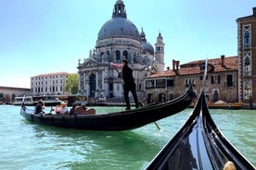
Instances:
[[[136,90],[141,97],[145,87],[143,79],[151,71],[164,69],[164,43],[159,33],[154,50],[144,30],[139,33],[127,18],[123,1],[117,0],[112,18],[98,31],[96,48],[83,63],[79,61],[79,93],[95,98],[122,98],[122,75],[110,65],[121,63],[122,59],[127,59],[129,67],[134,69]]]

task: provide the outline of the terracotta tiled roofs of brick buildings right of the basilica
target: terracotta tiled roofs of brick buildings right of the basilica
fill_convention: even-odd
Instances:
[[[237,59],[238,59],[237,56],[224,57],[224,66],[222,65],[222,58],[209,59],[208,63],[210,66],[213,67],[214,72],[224,72],[224,71],[238,70]],[[192,61],[184,65],[181,65],[177,71],[173,69],[169,69],[166,71],[153,73],[147,78],[171,77],[171,76],[175,76],[176,73],[178,75],[200,74],[200,65],[204,63],[205,63],[205,60]]]

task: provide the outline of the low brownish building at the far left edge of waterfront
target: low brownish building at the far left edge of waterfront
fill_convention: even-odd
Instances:
[[[0,103],[13,103],[15,97],[31,95],[31,89],[0,86]]]

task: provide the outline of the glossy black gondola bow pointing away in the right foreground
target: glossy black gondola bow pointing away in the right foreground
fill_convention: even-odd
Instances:
[[[255,169],[237,149],[224,138],[214,124],[201,91],[192,115],[172,140],[147,165],[148,170],[176,169]]]

